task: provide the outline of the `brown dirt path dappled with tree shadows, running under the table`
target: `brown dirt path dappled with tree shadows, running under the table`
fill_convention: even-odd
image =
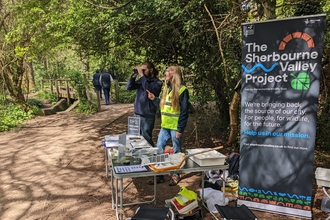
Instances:
[[[0,219],[115,219],[101,141],[106,134],[125,132],[127,116],[132,114],[133,104],[102,105],[102,111],[94,115],[69,112],[41,116],[17,131],[1,133]],[[159,119],[154,141],[158,132]],[[195,146],[194,132],[189,119],[184,146]],[[204,137],[200,136],[203,145],[214,147],[218,140],[207,131],[204,133]],[[182,185],[199,191],[200,175],[182,177],[175,187],[169,187],[169,177],[165,177],[167,182],[157,187],[157,204],[176,195]],[[145,178],[134,180],[125,199],[148,196],[152,186],[146,185],[146,181]],[[126,217],[132,216],[136,208],[125,208]],[[203,212],[205,220],[214,219]],[[259,219],[299,219],[254,213]]]

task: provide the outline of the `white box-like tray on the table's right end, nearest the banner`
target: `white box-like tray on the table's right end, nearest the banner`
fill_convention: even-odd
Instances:
[[[190,154],[194,154],[197,152],[210,150],[211,148],[196,148],[196,149],[188,149],[188,156]],[[226,156],[222,153],[219,153],[216,150],[208,151],[205,153],[197,154],[195,156],[190,157],[195,163],[199,166],[213,166],[213,165],[224,165]]]

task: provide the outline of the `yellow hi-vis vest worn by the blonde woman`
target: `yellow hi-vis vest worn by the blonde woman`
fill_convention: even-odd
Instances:
[[[187,89],[187,87],[181,86],[180,91],[179,91],[179,96],[186,89]],[[162,119],[161,127],[176,131],[176,130],[178,130],[180,108],[179,108],[178,111],[174,111],[174,109],[172,108],[171,97],[172,97],[172,91],[170,91],[166,95],[165,104],[160,109],[160,112],[161,112],[161,115],[162,115],[162,118],[161,118]]]

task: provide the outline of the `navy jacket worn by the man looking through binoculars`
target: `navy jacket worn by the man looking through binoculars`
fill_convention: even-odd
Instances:
[[[155,116],[158,106],[155,106],[153,102],[148,98],[149,90],[156,97],[159,97],[160,91],[162,89],[162,81],[157,77],[148,79],[142,76],[140,79],[135,80],[135,78],[130,78],[126,84],[127,90],[137,90],[136,97],[134,101],[134,113],[141,115],[143,117]]]

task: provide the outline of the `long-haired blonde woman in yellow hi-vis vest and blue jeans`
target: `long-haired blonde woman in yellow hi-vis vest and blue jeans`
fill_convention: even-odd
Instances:
[[[188,121],[189,93],[183,85],[181,69],[178,65],[171,65],[165,72],[166,84],[162,90],[161,99],[148,92],[148,97],[161,111],[161,129],[158,135],[157,147],[164,152],[167,141],[171,138],[174,153],[181,152],[182,133]],[[157,183],[164,182],[164,176],[157,176]],[[170,186],[180,181],[178,174],[173,174]],[[152,181],[148,182],[153,184]]]

